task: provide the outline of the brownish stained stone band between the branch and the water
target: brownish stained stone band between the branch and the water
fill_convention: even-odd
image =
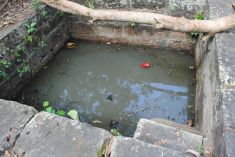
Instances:
[[[186,33],[162,31],[139,24],[132,28],[123,22],[98,22],[92,25],[76,23],[71,26],[70,31],[71,36],[76,39],[168,48],[189,53],[192,53],[196,43],[196,40]]]

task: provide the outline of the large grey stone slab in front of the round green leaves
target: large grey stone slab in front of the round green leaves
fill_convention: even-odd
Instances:
[[[24,157],[96,157],[110,137],[103,129],[41,112],[26,125],[13,150]]]

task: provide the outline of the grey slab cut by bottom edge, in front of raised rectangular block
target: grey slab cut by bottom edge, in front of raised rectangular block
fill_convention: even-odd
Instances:
[[[191,157],[186,153],[129,137],[114,138],[110,152],[110,157]]]

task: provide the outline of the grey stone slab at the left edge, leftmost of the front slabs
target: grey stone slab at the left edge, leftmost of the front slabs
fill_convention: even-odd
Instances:
[[[36,113],[32,107],[0,99],[0,151],[14,145],[26,123]]]

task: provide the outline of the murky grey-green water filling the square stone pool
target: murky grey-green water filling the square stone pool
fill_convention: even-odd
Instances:
[[[186,124],[194,105],[192,56],[168,50],[78,41],[23,91],[22,101],[39,107],[43,100],[66,111],[76,109],[81,121],[106,129],[119,122],[132,135],[140,118],[165,118]],[[149,61],[153,67],[142,69]]]

